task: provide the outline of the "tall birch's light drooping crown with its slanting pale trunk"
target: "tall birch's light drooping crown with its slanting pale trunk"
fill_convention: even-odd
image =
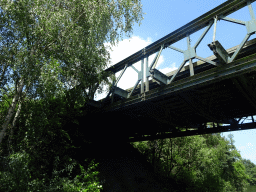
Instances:
[[[0,0],[1,96],[9,94],[8,84],[15,87],[0,143],[19,116],[22,93],[52,98],[79,85],[73,103],[92,99],[108,80],[104,43],[130,36],[134,22],[142,20],[141,7],[139,0]]]

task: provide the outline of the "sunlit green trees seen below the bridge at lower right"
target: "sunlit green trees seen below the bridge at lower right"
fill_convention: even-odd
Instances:
[[[166,187],[173,191],[245,191],[248,175],[233,143],[220,134],[207,134],[133,145],[158,174],[175,180],[176,188]]]

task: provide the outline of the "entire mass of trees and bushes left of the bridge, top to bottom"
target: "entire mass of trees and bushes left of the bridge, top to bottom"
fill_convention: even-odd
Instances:
[[[1,0],[0,191],[99,190],[96,165],[72,158],[80,132],[63,127],[109,83],[109,46],[142,19],[138,0]]]

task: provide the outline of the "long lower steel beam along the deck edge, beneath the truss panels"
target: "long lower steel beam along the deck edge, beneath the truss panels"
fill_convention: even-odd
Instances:
[[[256,70],[256,53],[238,59],[228,65],[219,66],[217,68],[212,68],[201,72],[200,75],[194,75],[190,78],[185,78],[177,82],[173,82],[173,84],[161,87],[161,89],[150,90],[145,94],[144,98],[145,101],[150,101],[162,96],[164,97],[169,94],[178,93],[179,91],[185,91],[191,88],[203,86],[205,84],[235,77],[252,70]],[[113,105],[107,106],[106,110],[115,110],[130,105],[136,105],[139,102],[141,102],[141,98],[134,96],[127,99],[126,101],[117,101],[116,103],[113,103]]]

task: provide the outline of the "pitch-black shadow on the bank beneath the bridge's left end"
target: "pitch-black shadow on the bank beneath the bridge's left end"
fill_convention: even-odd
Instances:
[[[77,147],[72,156],[81,164],[85,159],[99,163],[97,170],[104,192],[171,190],[173,182],[155,173],[146,157],[127,142],[127,130],[139,129],[149,119],[117,113],[101,113],[97,118],[87,114],[76,119],[77,123],[64,126]],[[153,126],[157,122],[150,123]]]

